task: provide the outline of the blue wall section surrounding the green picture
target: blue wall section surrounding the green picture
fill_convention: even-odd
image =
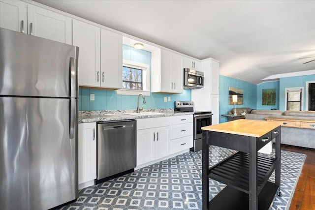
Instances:
[[[262,89],[276,89],[276,105],[262,105]],[[279,81],[265,82],[257,85],[257,107],[256,109],[278,109],[279,110]]]

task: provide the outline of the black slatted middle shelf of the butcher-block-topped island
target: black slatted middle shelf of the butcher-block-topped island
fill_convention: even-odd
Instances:
[[[230,187],[249,193],[249,153],[236,152],[209,168],[208,178],[220,181]],[[275,169],[277,159],[257,156],[257,193],[259,194]]]

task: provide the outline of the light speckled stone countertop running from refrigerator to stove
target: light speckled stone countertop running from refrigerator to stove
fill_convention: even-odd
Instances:
[[[114,120],[134,120],[193,114],[192,112],[174,112],[174,109],[149,109],[140,112],[140,114],[148,113],[147,115],[141,114],[134,116],[133,113],[135,113],[135,110],[79,111],[78,122],[83,123]]]

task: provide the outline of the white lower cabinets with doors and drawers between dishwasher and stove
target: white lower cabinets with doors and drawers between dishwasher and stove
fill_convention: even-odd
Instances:
[[[137,120],[137,168],[193,147],[193,115]]]

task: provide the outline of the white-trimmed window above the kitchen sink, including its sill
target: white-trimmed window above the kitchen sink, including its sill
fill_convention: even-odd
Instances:
[[[123,60],[123,89],[121,95],[150,95],[150,65]]]

